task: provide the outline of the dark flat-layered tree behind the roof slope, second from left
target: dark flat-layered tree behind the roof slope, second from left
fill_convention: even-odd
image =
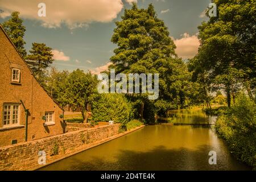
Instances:
[[[46,68],[54,60],[52,48],[47,47],[44,43],[32,43],[30,53],[30,55],[26,56],[26,62],[39,82],[45,84]]]

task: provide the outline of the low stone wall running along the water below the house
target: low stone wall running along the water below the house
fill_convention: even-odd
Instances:
[[[49,164],[68,154],[85,150],[93,144],[103,143],[117,135],[118,129],[119,124],[106,125],[0,147],[0,170],[27,170],[40,167],[39,151],[46,152],[46,163]]]

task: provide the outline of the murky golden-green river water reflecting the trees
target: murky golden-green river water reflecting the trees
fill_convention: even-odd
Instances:
[[[176,123],[214,123],[201,111],[172,111]],[[176,115],[176,116],[175,116]],[[210,165],[209,151],[217,164]],[[210,126],[151,125],[41,170],[247,170]]]

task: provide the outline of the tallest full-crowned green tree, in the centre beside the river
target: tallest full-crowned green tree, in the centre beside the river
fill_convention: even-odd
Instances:
[[[115,73],[159,73],[158,100],[149,101],[146,94],[133,95],[132,100],[140,105],[140,117],[151,113],[149,108],[157,112],[185,105],[184,92],[190,75],[177,57],[168,28],[157,17],[152,4],[147,9],[138,9],[133,3],[121,18],[115,23],[117,27],[112,36],[112,42],[118,47],[110,58],[113,63],[110,68],[114,68]]]

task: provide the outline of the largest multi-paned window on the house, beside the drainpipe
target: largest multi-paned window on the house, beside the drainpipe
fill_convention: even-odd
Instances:
[[[19,105],[3,105],[3,126],[19,125]]]

